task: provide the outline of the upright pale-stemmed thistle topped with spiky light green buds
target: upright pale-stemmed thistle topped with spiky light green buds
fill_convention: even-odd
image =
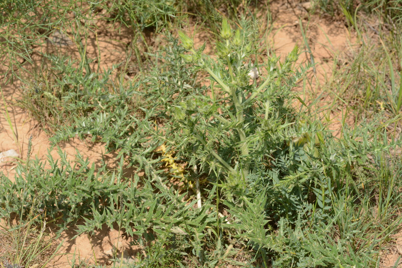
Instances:
[[[258,30],[258,29],[257,29]],[[174,114],[183,127],[180,146],[199,148],[198,162],[210,171],[224,172],[246,182],[261,168],[272,166],[272,154],[283,149],[289,139],[295,115],[287,105],[292,99],[291,87],[300,75],[292,76],[292,64],[297,60],[298,47],[285,57],[269,57],[264,65],[263,82],[250,82],[248,74],[255,68],[250,62],[258,51],[255,35],[245,31],[233,31],[226,19],[222,21],[220,37],[215,45],[217,59],[195,48],[193,40],[179,32],[183,47],[189,53],[182,54],[184,61],[194,70],[204,70],[211,80],[212,96],[192,96],[174,107]],[[219,89],[216,94],[215,89]],[[201,155],[201,156],[200,156]],[[193,160],[193,164],[196,164]],[[218,170],[219,169],[219,170]],[[239,181],[236,179],[237,181]],[[235,181],[236,181],[235,180]]]

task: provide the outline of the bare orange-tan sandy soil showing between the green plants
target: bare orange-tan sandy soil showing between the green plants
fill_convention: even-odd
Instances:
[[[267,42],[274,47],[277,55],[285,55],[291,51],[295,44],[304,46],[304,39],[301,35],[301,29],[299,25],[299,19],[304,28],[306,28],[308,20],[307,15],[309,6],[289,6],[289,4],[277,4],[271,7],[275,23],[273,25],[272,33],[267,37]],[[190,29],[191,27],[189,27]],[[314,77],[312,79],[313,84],[309,87],[308,98],[314,98],[320,93],[320,83],[322,83],[332,73],[333,58],[334,55],[345,51],[353,46],[355,40],[348,29],[343,23],[335,19],[320,18],[319,16],[311,16],[309,19],[308,30],[306,31],[306,38],[310,45],[312,55],[316,62],[316,72],[310,71],[309,76]],[[110,29],[100,29],[96,33],[96,36],[90,36],[88,39],[87,53],[88,57],[98,57],[100,53],[100,67],[107,68],[112,64],[123,61],[126,57],[126,47],[133,39],[133,33],[129,29],[124,29],[119,34],[113,32]],[[195,41],[197,43],[203,43],[205,40],[205,34],[197,33],[195,35]],[[74,45],[69,42],[68,39],[63,39],[63,36],[55,35],[53,40],[62,44],[59,49],[62,53],[69,53],[75,55],[78,53]],[[38,48],[39,49],[39,48]],[[56,47],[52,43],[47,43],[45,49],[50,53],[54,53]],[[207,51],[212,51],[211,46],[207,47]],[[310,59],[310,53],[301,53],[298,63],[305,63]],[[37,59],[37,64],[40,64],[40,60]],[[98,64],[98,63],[93,63]],[[94,66],[95,67],[95,66]],[[126,77],[129,78],[129,77]],[[6,151],[8,149],[15,149],[20,153],[21,158],[25,159],[27,154],[28,139],[32,135],[33,155],[38,158],[44,159],[49,148],[49,141],[47,135],[41,131],[38,127],[38,123],[29,117],[29,114],[16,107],[12,103],[21,96],[21,91],[18,89],[21,86],[21,82],[14,81],[12,84],[1,85],[4,93],[4,98],[7,104],[7,111],[10,117],[12,128],[14,129],[14,138],[12,129],[8,124],[6,118],[0,116],[0,151]],[[332,100],[331,96],[324,96],[322,102],[329,102]],[[2,110],[6,107],[1,102]],[[332,112],[330,114],[330,129],[334,130],[334,135],[339,135],[341,127],[340,120],[342,118],[343,111],[338,113]],[[353,122],[353,118],[348,121]],[[103,152],[102,144],[91,144],[85,141],[75,139],[68,143],[60,144],[60,147],[67,152],[68,157],[74,160],[76,150],[82,155],[89,157],[92,161],[96,162]],[[57,157],[57,152],[53,150],[51,152],[53,157]],[[15,175],[14,171],[15,163],[2,164],[0,171],[4,172],[8,178],[13,179]],[[113,253],[117,255],[123,253],[124,258],[127,260],[133,260],[135,254],[140,250],[138,247],[130,246],[132,239],[123,236],[123,232],[117,229],[108,229],[107,227],[96,230],[94,234],[89,237],[88,235],[79,235],[76,239],[71,240],[75,235],[74,228],[65,231],[60,239],[64,239],[64,244],[59,250],[59,253],[68,253],[67,255],[58,256],[55,258],[50,266],[52,267],[71,267],[69,262],[76,254],[80,256],[81,260],[93,262],[94,257],[100,264],[109,264],[108,260],[113,256]],[[396,246],[390,250],[390,254],[384,257],[384,267],[390,267],[396,261],[396,258],[402,254],[402,236],[396,237]]]

